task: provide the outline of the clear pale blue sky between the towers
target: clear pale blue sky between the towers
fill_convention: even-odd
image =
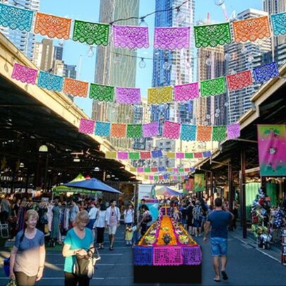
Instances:
[[[104,1],[104,0],[103,0]],[[120,1],[120,0],[116,0]],[[225,0],[227,14],[230,16],[232,11],[240,13],[247,8],[262,9],[262,0]],[[50,13],[54,16],[61,16],[76,20],[87,20],[98,22],[100,13],[100,0],[41,0],[40,11]],[[139,16],[145,16],[155,11],[155,0],[141,0]],[[215,22],[224,22],[225,16],[220,6],[215,5],[215,0],[196,0],[195,20],[205,19],[207,13],[210,13],[210,19]],[[138,49],[138,56],[141,58],[153,57],[153,35],[155,16],[145,18],[149,27],[150,48]],[[37,40],[41,40],[37,36]],[[57,44],[54,40],[54,44]],[[81,71],[78,79],[81,81],[94,82],[96,51],[93,57],[88,56],[88,45],[68,40],[64,42],[64,61],[66,64],[76,64],[79,66],[81,58]],[[124,59],[121,59],[124,60]],[[141,59],[138,59],[138,63]],[[136,87],[141,88],[141,94],[144,96],[147,89],[152,85],[153,61],[145,60],[146,67],[139,68],[137,65]],[[83,109],[85,114],[91,116],[92,100],[89,98],[77,98],[76,104]]]

